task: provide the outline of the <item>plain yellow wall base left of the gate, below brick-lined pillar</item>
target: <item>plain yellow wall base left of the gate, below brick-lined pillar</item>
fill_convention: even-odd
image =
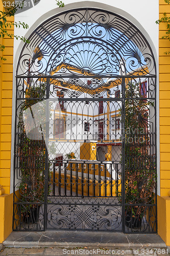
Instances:
[[[0,243],[12,232],[13,194],[0,196]]]

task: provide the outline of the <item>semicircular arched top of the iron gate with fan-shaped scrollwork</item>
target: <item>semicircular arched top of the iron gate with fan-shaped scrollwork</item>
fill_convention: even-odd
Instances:
[[[156,76],[142,33],[117,14],[94,8],[63,12],[30,35],[17,76]]]

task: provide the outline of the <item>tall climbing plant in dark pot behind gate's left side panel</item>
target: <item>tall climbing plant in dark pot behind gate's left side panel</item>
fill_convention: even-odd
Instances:
[[[18,124],[20,134],[17,155],[19,157],[18,164],[21,173],[19,191],[21,195],[20,202],[22,203],[20,212],[22,222],[29,224],[38,222],[40,205],[44,202],[46,145],[44,141],[44,134],[42,132],[42,125],[35,125],[31,131],[32,135],[29,134],[28,127],[30,128],[31,121],[27,114],[27,110],[30,110],[32,119],[34,120],[32,106],[42,101],[42,98],[45,97],[45,92],[45,83],[41,84],[41,86],[30,86],[28,88],[26,91],[26,99],[21,106],[19,116],[20,120]],[[45,104],[42,102],[42,104],[37,108],[37,116],[40,115],[40,113],[42,114],[42,112],[45,113],[45,111]]]

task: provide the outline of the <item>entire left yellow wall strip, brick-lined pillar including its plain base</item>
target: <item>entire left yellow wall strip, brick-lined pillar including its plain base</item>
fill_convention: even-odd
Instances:
[[[0,10],[3,11],[2,1]],[[13,21],[14,17],[8,17]],[[8,30],[13,33],[13,29]],[[5,45],[4,52],[0,55],[6,61],[0,60],[0,184],[5,193],[0,196],[0,243],[2,243],[12,231],[12,205],[13,194],[10,194],[11,173],[11,122],[12,122],[12,80],[13,80],[13,43],[8,37],[1,38],[1,44]]]

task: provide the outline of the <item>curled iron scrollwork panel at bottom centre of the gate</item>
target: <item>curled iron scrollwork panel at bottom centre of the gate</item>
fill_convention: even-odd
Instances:
[[[122,214],[115,206],[81,206],[75,204],[51,206],[47,213],[49,228],[119,230]]]

